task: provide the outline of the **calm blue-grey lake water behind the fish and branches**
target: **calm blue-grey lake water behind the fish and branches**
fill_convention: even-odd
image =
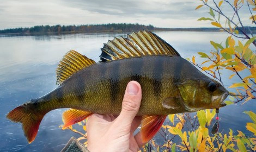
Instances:
[[[196,56],[197,52],[208,53],[214,48],[210,40],[225,42],[226,33],[168,31],[156,32],[172,45],[183,58]],[[7,113],[29,99],[43,96],[57,87],[55,70],[63,55],[70,49],[99,61],[100,48],[114,36],[125,34],[74,34],[51,36],[4,36],[0,35],[0,151],[60,151],[71,136],[80,137],[70,130],[62,130],[62,112],[53,110],[46,114],[39,127],[35,141],[28,144],[20,123],[10,122]],[[245,43],[245,42],[243,42]],[[225,87],[237,81],[229,79],[229,71],[222,71]],[[254,111],[254,101],[241,106],[241,103],[220,109],[220,130],[234,134],[245,128],[249,117],[243,111]]]

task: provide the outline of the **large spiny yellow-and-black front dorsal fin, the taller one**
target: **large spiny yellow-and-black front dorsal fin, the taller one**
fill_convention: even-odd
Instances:
[[[150,31],[138,31],[126,38],[115,37],[101,48],[101,61],[111,61],[146,55],[180,56],[166,41]]]

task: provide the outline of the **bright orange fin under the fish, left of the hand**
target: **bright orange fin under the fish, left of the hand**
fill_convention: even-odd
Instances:
[[[90,115],[92,115],[92,112],[82,111],[82,110],[76,110],[76,109],[69,109],[63,112],[63,128],[67,128],[68,126],[81,122]]]

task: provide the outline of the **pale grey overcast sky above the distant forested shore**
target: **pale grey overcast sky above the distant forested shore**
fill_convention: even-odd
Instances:
[[[197,21],[209,17],[206,7],[195,10],[199,4],[199,0],[0,0],[0,29],[102,23],[212,27],[210,22]],[[241,12],[242,20],[248,20],[249,12]]]

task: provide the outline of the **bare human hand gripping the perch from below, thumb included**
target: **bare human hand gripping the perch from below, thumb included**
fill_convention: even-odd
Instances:
[[[141,132],[133,136],[133,132],[141,124],[141,117],[136,117],[141,99],[141,85],[136,81],[130,81],[118,117],[99,114],[88,117],[88,150],[138,151],[145,144],[142,142]]]

